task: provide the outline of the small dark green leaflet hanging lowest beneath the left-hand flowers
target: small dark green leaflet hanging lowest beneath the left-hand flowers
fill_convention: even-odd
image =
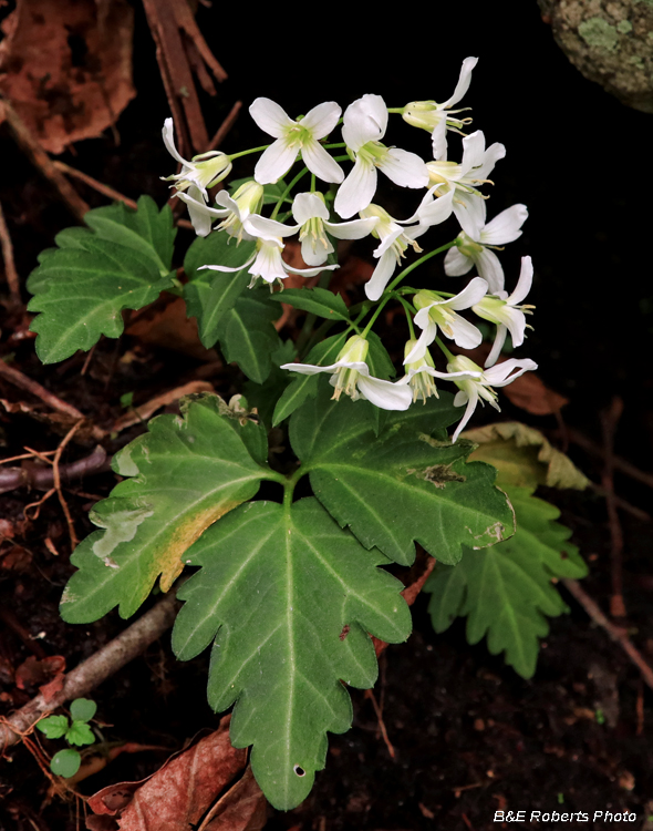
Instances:
[[[263,383],[272,369],[272,352],[281,339],[272,326],[279,307],[270,302],[270,291],[261,287],[239,297],[218,324],[218,337],[225,358],[236,361],[256,383]]]

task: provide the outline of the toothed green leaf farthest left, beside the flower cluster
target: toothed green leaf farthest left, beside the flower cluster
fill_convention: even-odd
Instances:
[[[30,311],[37,353],[44,363],[90,349],[101,335],[117,338],[123,309],[139,309],[173,285],[168,271],[175,229],[166,206],[157,212],[148,197],[134,212],[124,205],[86,214],[94,230],[70,228],[58,249],[39,257],[29,277]]]

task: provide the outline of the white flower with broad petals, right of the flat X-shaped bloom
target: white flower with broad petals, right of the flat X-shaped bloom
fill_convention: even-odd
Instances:
[[[376,168],[395,185],[426,187],[426,165],[414,153],[381,143],[387,129],[387,107],[381,95],[363,95],[344,111],[342,137],[354,167],[335,195],[335,212],[343,218],[367,207],[376,191]]]

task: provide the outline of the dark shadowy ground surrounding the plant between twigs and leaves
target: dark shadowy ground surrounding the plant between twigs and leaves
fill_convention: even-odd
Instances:
[[[531,254],[536,265],[537,329],[521,351],[538,361],[545,382],[570,399],[562,411],[566,423],[598,443],[599,413],[620,396],[624,413],[616,452],[651,470],[653,378],[638,360],[642,353],[647,361],[651,352],[645,301],[653,293],[642,268],[650,238],[650,218],[642,205],[653,186],[652,167],[645,164],[651,116],[626,110],[584,81],[559,52],[533,0],[521,0],[514,9],[511,3],[489,9],[488,3],[470,2],[464,20],[460,4],[454,6],[434,11],[424,31],[419,22],[408,21],[396,33],[387,21],[371,22],[363,33],[348,25],[342,10],[333,20],[324,10],[324,21],[333,25],[330,39],[340,32],[332,63],[326,62],[329,41],[320,41],[318,48],[315,33],[301,29],[299,20],[290,23],[270,12],[269,20],[258,20],[256,32],[238,32],[236,18],[226,20],[217,6],[200,6],[198,21],[231,76],[217,102],[208,96],[204,102],[209,133],[238,98],[247,105],[257,95],[269,95],[294,113],[329,99],[346,105],[366,92],[382,93],[391,106],[449,95],[463,58],[479,54],[464,103],[474,106],[475,127],[486,132],[488,143],[504,141],[508,147],[496,171],[493,211],[515,202],[530,209],[524,237],[502,255],[507,274],[514,276],[522,255]],[[149,193],[162,204],[167,192],[158,177],[172,172],[159,138],[168,110],[139,7],[136,12],[138,96],[117,123],[121,144],[116,146],[107,133],[80,143],[75,155],[62,158],[129,197]],[[256,135],[243,112],[226,148],[250,146]],[[397,143],[408,146],[415,141],[408,132],[406,136],[404,141],[400,131]],[[74,220],[1,126],[0,153],[0,202],[24,278],[39,252]],[[80,185],[80,192],[92,206],[105,204],[85,186]],[[388,195],[396,196],[392,189]],[[179,233],[180,253],[191,238],[188,232]],[[103,340],[85,375],[83,355],[44,368],[34,356],[33,340],[25,337],[24,320],[9,312],[0,355],[102,425],[124,411],[120,397],[127,392],[134,392],[138,404],[191,379],[207,378],[225,397],[241,383],[234,368],[211,363],[214,358],[201,349],[189,357],[187,349],[164,349],[128,336],[117,343]],[[38,403],[2,380],[0,398]],[[3,458],[21,453],[25,444],[39,451],[56,448],[68,428],[46,418],[46,408],[37,409],[38,417],[0,408]],[[508,402],[502,414],[542,430],[558,428],[554,418],[533,417]],[[141,431],[125,431],[107,443],[107,452]],[[93,444],[83,437],[72,442],[62,462],[90,453]],[[600,481],[600,459],[573,444],[570,453],[594,482]],[[77,535],[92,529],[87,511],[114,483],[115,476],[106,472],[66,491]],[[649,510],[645,485],[618,475],[615,488],[621,497]],[[38,519],[23,519],[25,505],[42,495],[24,490],[0,495],[0,517],[15,534],[0,541],[0,607],[7,624],[0,632],[1,714],[22,706],[37,691],[38,684],[27,683],[24,689],[15,685],[14,671],[30,655],[63,655],[72,668],[125,626],[116,613],[84,627],[61,622],[58,604],[72,566],[56,497],[44,503]],[[603,500],[591,492],[551,492],[546,497],[561,507],[562,521],[573,530],[573,541],[591,566],[583,586],[607,611],[611,543]],[[624,511],[620,520],[625,623],[638,648],[653,661],[651,524]],[[501,656],[490,656],[485,643],[469,647],[464,622],[435,636],[425,599],[419,598],[415,633],[406,645],[386,650],[375,689],[394,759],[371,701],[352,690],[353,729],[331,737],[326,770],[310,798],[287,814],[271,812],[267,828],[483,831],[500,827],[494,821],[496,811],[526,811],[527,820],[531,811],[589,814],[576,824],[549,818],[533,825],[546,829],[618,827],[603,819],[594,822],[594,812],[629,811],[636,813],[631,827],[653,828],[653,820],[647,823],[653,814],[651,690],[620,647],[592,625],[573,598],[567,601],[570,614],[551,622],[538,671],[525,681]],[[24,630],[22,637],[18,627]],[[207,655],[177,663],[164,637],[95,690],[107,740],[157,745],[162,750],[118,757],[82,783],[83,793],[144,778],[186,739],[217,725],[218,717],[205,704],[207,665]],[[49,751],[59,749],[55,742],[43,745]],[[14,748],[0,765],[0,829],[83,828],[80,806],[48,798],[48,784],[28,750]],[[530,822],[506,827],[510,825]]]

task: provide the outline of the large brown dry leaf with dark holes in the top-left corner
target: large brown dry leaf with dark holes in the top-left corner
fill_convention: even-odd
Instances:
[[[113,125],[135,96],[126,0],[18,0],[2,23],[0,92],[51,153]]]

